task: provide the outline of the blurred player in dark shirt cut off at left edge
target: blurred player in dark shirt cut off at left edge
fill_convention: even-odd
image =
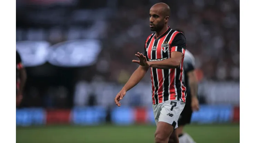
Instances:
[[[26,70],[22,65],[20,54],[16,51],[16,106],[19,106],[22,100],[22,93],[26,80]]]

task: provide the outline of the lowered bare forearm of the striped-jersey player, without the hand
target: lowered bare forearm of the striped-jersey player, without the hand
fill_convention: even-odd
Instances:
[[[125,86],[122,88],[125,91],[130,90],[131,88],[133,88],[134,86],[136,86],[139,81],[145,76],[145,74],[147,73],[149,67],[144,67],[144,66],[139,66],[134,73],[131,75],[130,79],[127,81],[127,83],[125,84]]]

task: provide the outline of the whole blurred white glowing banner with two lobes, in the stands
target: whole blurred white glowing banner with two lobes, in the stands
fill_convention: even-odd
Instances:
[[[61,67],[93,65],[101,52],[98,40],[73,40],[50,45],[46,41],[19,41],[16,50],[24,66],[39,66],[46,62]]]

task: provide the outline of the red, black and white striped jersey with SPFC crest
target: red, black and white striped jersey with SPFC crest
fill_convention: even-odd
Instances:
[[[152,102],[162,103],[167,100],[186,100],[186,86],[183,82],[183,61],[186,50],[186,39],[183,33],[168,30],[159,37],[151,34],[145,42],[145,53],[147,61],[162,61],[171,58],[171,52],[183,53],[179,68],[173,69],[151,69]]]

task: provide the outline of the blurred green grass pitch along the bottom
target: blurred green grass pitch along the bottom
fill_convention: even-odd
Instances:
[[[16,143],[154,143],[154,125],[17,127]],[[239,143],[239,124],[188,125],[196,143]]]

